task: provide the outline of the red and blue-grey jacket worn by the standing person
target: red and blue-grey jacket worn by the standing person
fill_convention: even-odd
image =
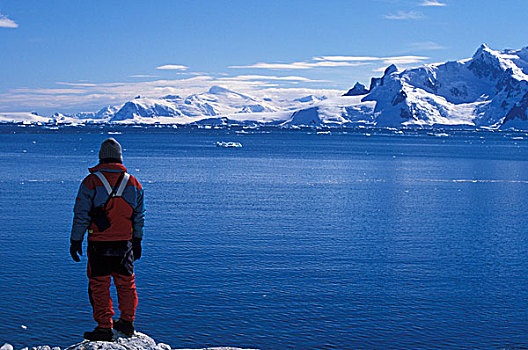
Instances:
[[[86,230],[89,241],[125,241],[131,240],[132,237],[143,238],[145,205],[143,189],[139,181],[130,175],[126,186],[120,186],[123,187],[122,193],[111,198],[106,207],[110,227],[99,232],[90,217],[92,208],[104,205],[108,199],[107,188],[99,176],[102,174],[113,187],[121,173],[127,170],[121,163],[103,163],[90,168],[89,171],[90,175],[81,183],[75,200],[71,239],[82,241]],[[100,174],[96,174],[97,172]],[[126,177],[122,182],[124,183],[125,180]]]

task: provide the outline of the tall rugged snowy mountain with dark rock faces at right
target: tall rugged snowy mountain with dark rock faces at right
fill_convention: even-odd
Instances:
[[[496,51],[482,45],[470,59],[402,71],[391,65],[368,90],[356,85],[345,95],[356,99],[298,111],[287,124],[310,115],[312,124],[527,129],[528,47]]]

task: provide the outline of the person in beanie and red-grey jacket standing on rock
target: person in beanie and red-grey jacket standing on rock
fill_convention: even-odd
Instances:
[[[70,254],[79,262],[82,241],[88,230],[88,295],[97,327],[85,332],[89,340],[112,341],[116,331],[134,334],[138,303],[134,261],[141,257],[145,207],[143,189],[123,166],[121,145],[105,140],[99,164],[89,169],[74,206]],[[120,318],[112,320],[111,278],[117,290]]]

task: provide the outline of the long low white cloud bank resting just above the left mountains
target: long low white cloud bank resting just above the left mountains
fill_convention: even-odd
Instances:
[[[207,91],[213,85],[252,95],[258,98],[280,96],[278,91],[288,92],[295,98],[307,94],[331,95],[331,89],[294,88],[292,85],[312,82],[301,76],[239,75],[213,77],[210,75],[192,76],[174,80],[150,80],[137,82],[78,83],[58,82],[70,88],[11,89],[0,94],[0,110],[36,110],[40,113],[94,111],[106,105],[120,106],[140,95],[159,98],[165,95],[188,96]],[[271,93],[270,91],[273,91]],[[268,93],[269,92],[269,93]],[[317,92],[317,93],[316,93]],[[342,93],[342,91],[339,91]],[[284,98],[284,97],[283,97]]]

